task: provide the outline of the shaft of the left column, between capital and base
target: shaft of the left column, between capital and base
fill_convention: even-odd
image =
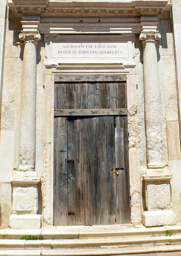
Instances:
[[[34,170],[36,128],[37,42],[24,42],[23,77],[21,91],[19,169]]]

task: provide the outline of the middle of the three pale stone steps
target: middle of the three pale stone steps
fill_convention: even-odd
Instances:
[[[71,249],[71,248],[117,248],[129,246],[151,246],[154,244],[181,244],[181,234],[146,237],[117,237],[95,239],[45,239],[45,240],[21,240],[0,239],[0,250],[3,249]]]

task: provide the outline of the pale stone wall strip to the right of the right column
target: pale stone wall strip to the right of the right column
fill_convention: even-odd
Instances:
[[[181,221],[181,148],[179,135],[179,108],[177,99],[177,77],[175,70],[175,56],[172,23],[170,19],[160,20],[162,45],[160,46],[160,86],[164,96],[165,123],[167,131],[167,149],[169,169],[173,174],[171,179],[171,206],[177,221]],[[181,59],[181,58],[180,58]],[[163,93],[164,92],[164,93]]]

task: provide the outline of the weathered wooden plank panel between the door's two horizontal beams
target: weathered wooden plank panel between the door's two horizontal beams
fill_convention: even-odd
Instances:
[[[125,82],[55,83],[56,109],[126,108]]]

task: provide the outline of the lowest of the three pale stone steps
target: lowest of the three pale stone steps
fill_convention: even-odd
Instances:
[[[0,256],[123,256],[123,255],[142,255],[154,253],[159,255],[160,252],[167,255],[168,252],[174,253],[175,256],[181,255],[181,245],[166,245],[166,246],[140,246],[129,248],[83,248],[83,249],[57,249],[57,250],[0,250]],[[175,254],[176,252],[176,254]],[[172,255],[172,254],[170,254]]]

